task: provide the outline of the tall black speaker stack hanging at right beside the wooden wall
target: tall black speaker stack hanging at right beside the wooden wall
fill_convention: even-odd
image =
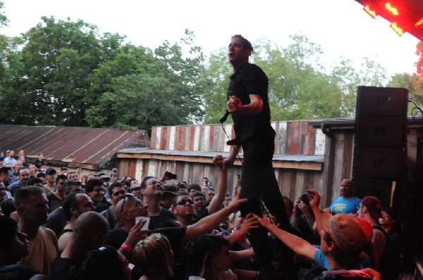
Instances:
[[[405,182],[407,89],[358,87],[353,182],[356,194],[390,205]]]

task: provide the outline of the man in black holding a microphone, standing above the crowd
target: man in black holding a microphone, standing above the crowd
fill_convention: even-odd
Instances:
[[[232,165],[240,146],[243,147],[241,198],[248,198],[248,202],[240,208],[243,217],[248,212],[261,215],[260,198],[262,198],[271,215],[281,223],[281,228],[288,230],[289,221],[271,162],[275,131],[270,124],[267,94],[269,79],[261,68],[248,62],[252,52],[252,44],[247,39],[241,35],[232,37],[228,46],[228,60],[233,66],[234,73],[231,75],[227,93],[226,115],[230,113],[233,118],[235,139],[228,141],[228,144],[233,144],[233,148],[224,162],[225,166]],[[260,265],[269,263],[271,249],[266,238],[266,230],[257,229],[251,234],[257,261]]]

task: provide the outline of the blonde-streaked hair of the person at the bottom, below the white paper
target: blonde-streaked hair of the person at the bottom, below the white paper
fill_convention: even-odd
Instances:
[[[173,276],[171,243],[161,234],[152,234],[137,243],[133,262],[135,268],[145,276]]]

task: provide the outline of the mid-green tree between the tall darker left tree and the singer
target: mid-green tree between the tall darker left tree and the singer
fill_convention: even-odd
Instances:
[[[192,37],[185,30],[179,44],[165,41],[153,53],[124,47],[114,61],[96,71],[97,84],[102,84],[99,91],[106,91],[87,110],[88,124],[149,130],[155,125],[200,122],[202,86],[197,79],[204,57],[200,48],[192,46]],[[183,57],[182,47],[189,49],[189,56]]]

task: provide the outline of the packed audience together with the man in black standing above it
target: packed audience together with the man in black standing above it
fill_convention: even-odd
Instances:
[[[234,35],[226,113],[235,138],[216,155],[215,186],[176,175],[132,177],[44,168],[0,157],[0,279],[398,279],[398,217],[353,182],[320,208],[309,189],[281,195],[272,167],[269,80],[248,62],[252,45]],[[228,192],[228,169],[243,150],[242,177]],[[156,175],[157,176],[157,175]],[[382,278],[381,278],[382,277]]]

